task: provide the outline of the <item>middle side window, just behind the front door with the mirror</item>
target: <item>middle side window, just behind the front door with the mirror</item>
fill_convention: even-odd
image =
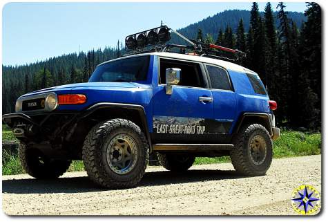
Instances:
[[[218,66],[206,65],[213,89],[231,90],[228,73]]]

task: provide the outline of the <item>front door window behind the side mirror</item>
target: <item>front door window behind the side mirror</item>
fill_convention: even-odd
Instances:
[[[205,87],[200,64],[171,59],[160,59],[160,84],[166,84],[166,68],[181,69],[179,86]]]

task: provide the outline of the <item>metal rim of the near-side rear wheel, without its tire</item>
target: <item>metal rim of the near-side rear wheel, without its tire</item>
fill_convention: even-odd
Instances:
[[[267,143],[262,136],[256,135],[251,138],[251,141],[249,142],[249,156],[255,165],[261,165],[264,163],[264,160],[267,157]]]

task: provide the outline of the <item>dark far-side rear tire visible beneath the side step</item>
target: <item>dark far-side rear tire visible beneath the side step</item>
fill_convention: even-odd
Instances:
[[[184,172],[188,170],[195,162],[195,156],[186,156],[179,154],[160,154],[157,153],[160,164],[172,172]]]

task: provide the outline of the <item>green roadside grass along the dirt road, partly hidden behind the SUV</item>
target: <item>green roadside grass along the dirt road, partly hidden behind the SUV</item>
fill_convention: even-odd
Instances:
[[[3,127],[3,140],[15,140],[10,129]],[[291,156],[309,156],[321,154],[321,133],[303,133],[283,129],[278,140],[273,142],[273,158],[283,158]],[[197,157],[195,165],[211,163],[230,162],[229,156],[222,157]],[[84,164],[81,160],[73,160],[68,172],[83,171]],[[2,151],[2,175],[23,174],[23,169],[19,163],[17,154],[9,154]]]

